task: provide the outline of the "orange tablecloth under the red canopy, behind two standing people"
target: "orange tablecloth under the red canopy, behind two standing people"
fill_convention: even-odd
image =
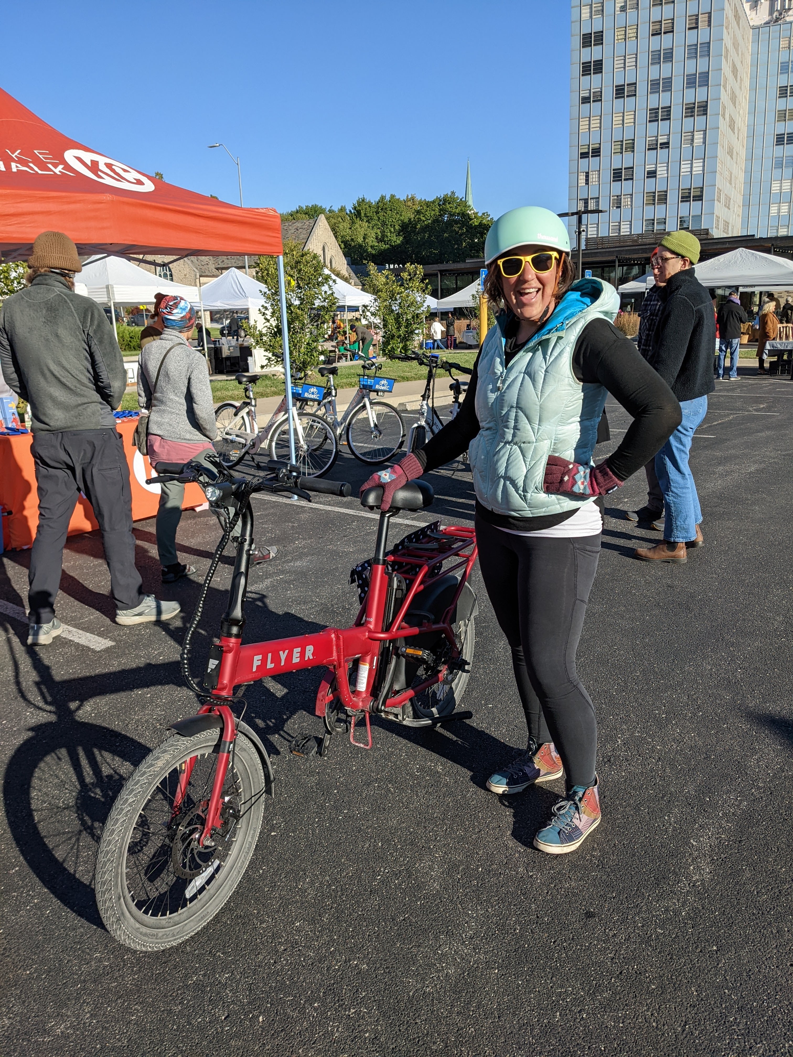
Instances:
[[[147,477],[153,477],[149,460],[132,446],[132,433],[136,419],[121,419],[116,428],[124,440],[124,450],[129,463],[132,485],[132,520],[141,521],[156,514],[160,502],[160,485],[146,484]],[[16,437],[0,437],[0,506],[11,511],[10,517],[2,518],[3,545],[6,550],[30,546],[38,524],[38,498],[36,495],[36,471],[31,455],[31,433]],[[185,486],[184,509],[193,509],[206,502],[197,484]],[[69,535],[92,532],[98,528],[94,512],[88,500],[80,496],[69,522]]]

